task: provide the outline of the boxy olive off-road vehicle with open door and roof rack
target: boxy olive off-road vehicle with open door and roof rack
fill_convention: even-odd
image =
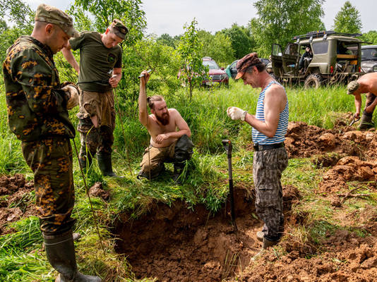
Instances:
[[[332,30],[297,35],[288,43],[284,53],[279,44],[273,44],[271,61],[273,74],[280,82],[304,82],[305,87],[318,88],[322,84],[349,82],[361,72],[360,34],[338,33]],[[313,58],[299,67],[306,47],[311,47]]]

